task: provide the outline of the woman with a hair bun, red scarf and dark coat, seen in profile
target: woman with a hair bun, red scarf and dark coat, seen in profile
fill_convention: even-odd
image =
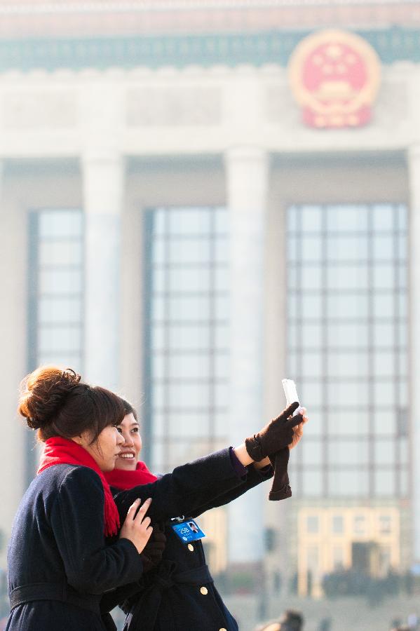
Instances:
[[[102,595],[142,577],[151,500],[134,501],[119,530],[104,477],[121,452],[123,403],[80,379],[40,367],[22,381],[19,412],[45,449],[13,523],[7,631],[115,630]]]

